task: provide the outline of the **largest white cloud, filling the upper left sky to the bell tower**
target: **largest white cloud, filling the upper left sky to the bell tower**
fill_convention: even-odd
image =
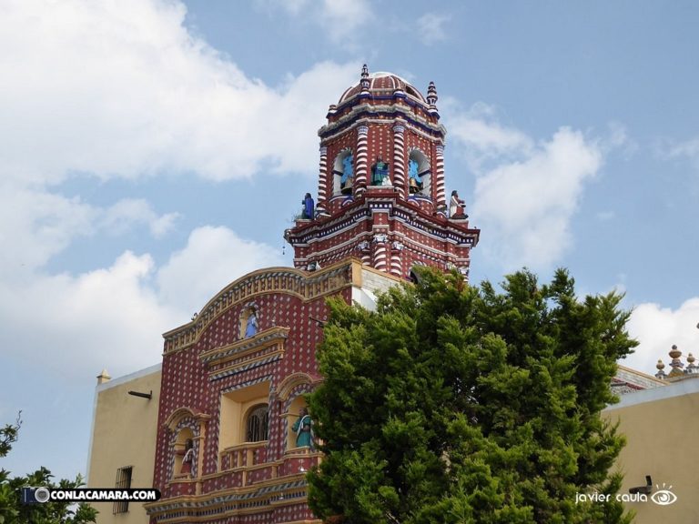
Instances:
[[[185,15],[164,0],[5,5],[5,179],[163,171],[228,179],[252,176],[262,163],[277,171],[314,165],[318,123],[359,65],[322,63],[267,86],[190,35]]]

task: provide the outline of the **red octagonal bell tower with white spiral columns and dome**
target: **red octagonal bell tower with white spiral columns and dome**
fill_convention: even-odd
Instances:
[[[343,258],[395,277],[416,265],[468,277],[469,227],[456,191],[444,189],[446,129],[437,89],[427,97],[400,76],[369,73],[329,107],[319,129],[318,204],[285,232],[294,266],[313,270]]]

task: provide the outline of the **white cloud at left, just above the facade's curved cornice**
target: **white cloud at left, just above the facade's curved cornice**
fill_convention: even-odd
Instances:
[[[69,377],[107,368],[113,376],[155,364],[161,333],[188,321],[244,274],[281,264],[271,247],[226,227],[200,227],[162,267],[130,251],[86,273],[0,281],[0,345],[13,358],[42,355],[42,367]]]

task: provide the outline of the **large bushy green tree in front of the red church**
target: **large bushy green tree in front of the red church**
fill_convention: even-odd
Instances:
[[[622,523],[610,473],[623,437],[601,410],[632,352],[614,293],[579,299],[559,270],[464,284],[420,271],[377,310],[329,301],[309,397],[325,453],[309,474],[322,519],[367,523]]]

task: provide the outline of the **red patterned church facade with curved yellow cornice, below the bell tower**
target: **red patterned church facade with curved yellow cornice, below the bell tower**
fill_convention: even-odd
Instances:
[[[295,448],[289,427],[302,395],[320,379],[315,348],[325,299],[339,294],[349,301],[358,266],[347,260],[312,274],[289,267],[256,271],[165,334],[154,476],[162,499],[147,506],[152,522],[313,519],[305,471],[319,456]],[[245,338],[241,317],[250,307],[258,331]],[[240,426],[256,399],[268,404],[268,435],[246,441]],[[231,436],[236,430],[238,437]],[[177,453],[183,434],[194,442],[188,475],[180,474]]]

